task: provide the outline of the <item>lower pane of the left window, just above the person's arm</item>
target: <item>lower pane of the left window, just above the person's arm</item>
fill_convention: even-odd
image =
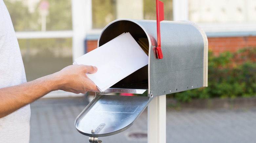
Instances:
[[[27,81],[72,65],[72,39],[19,39]]]

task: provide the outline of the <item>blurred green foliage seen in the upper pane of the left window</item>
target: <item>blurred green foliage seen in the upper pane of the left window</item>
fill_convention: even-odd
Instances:
[[[71,30],[72,12],[71,0],[48,0],[49,14],[46,20],[46,30]],[[5,0],[15,31],[40,31],[41,15],[39,3],[33,12],[29,11],[24,1]]]

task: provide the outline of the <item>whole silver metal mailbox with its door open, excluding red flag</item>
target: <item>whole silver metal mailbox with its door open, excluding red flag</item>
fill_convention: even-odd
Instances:
[[[124,32],[136,41],[146,38],[149,64],[96,93],[75,120],[78,132],[91,137],[117,134],[129,128],[155,96],[207,86],[208,41],[203,30],[190,21],[160,22],[163,59],[158,59],[156,25],[153,20],[119,19],[103,29],[98,47]],[[148,97],[103,95],[145,90]]]

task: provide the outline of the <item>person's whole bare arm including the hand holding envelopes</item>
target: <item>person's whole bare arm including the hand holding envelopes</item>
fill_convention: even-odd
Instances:
[[[98,92],[96,85],[85,74],[95,73],[96,67],[71,65],[56,73],[24,84],[0,89],[0,118],[39,99],[53,90],[73,93]]]

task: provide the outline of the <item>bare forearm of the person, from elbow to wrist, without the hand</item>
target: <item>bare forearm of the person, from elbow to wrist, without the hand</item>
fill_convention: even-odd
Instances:
[[[58,77],[51,74],[28,83],[1,88],[0,118],[11,114],[53,90],[57,90],[61,83],[59,80]]]

